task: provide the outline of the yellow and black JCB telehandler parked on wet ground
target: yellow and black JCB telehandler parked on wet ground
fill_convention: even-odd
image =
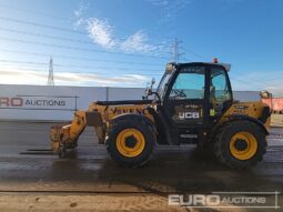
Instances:
[[[85,127],[94,127],[99,143],[123,166],[145,164],[156,144],[181,143],[211,148],[232,168],[254,165],[266,152],[271,111],[260,101],[233,100],[230,68],[218,62],[169,63],[158,89],[153,91],[152,83],[143,100],[97,101],[77,111],[70,124],[52,127],[52,149],[63,157],[78,145]]]

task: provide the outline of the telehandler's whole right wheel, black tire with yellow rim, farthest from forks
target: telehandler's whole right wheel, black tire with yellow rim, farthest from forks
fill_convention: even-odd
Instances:
[[[226,123],[215,137],[214,153],[231,168],[252,166],[263,159],[265,152],[265,133],[250,121]]]

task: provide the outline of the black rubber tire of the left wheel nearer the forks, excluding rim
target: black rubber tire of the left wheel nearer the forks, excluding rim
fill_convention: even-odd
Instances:
[[[143,151],[133,158],[124,157],[117,148],[117,137],[125,129],[135,129],[140,131],[145,140]],[[120,165],[125,168],[135,168],[149,162],[155,145],[156,135],[151,122],[143,115],[127,114],[113,120],[110,124],[107,139],[107,149],[111,158]]]

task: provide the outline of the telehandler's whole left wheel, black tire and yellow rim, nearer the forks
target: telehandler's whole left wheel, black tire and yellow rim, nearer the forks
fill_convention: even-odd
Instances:
[[[155,144],[155,133],[146,118],[124,115],[114,120],[108,132],[107,148],[122,166],[145,164]]]

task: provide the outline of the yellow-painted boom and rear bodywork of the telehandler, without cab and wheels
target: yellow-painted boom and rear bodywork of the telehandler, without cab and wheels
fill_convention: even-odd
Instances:
[[[95,102],[89,105],[88,111],[75,111],[74,118],[70,124],[67,125],[55,125],[51,128],[50,138],[53,142],[53,150],[58,150],[60,142],[77,142],[79,135],[88,125],[87,114],[88,112],[93,112],[98,114],[98,117],[93,118],[95,124],[94,130],[99,140],[99,143],[105,142],[107,131],[111,120],[115,119],[119,115],[128,114],[128,113],[138,113],[145,115],[153,124],[154,118],[149,113],[148,108],[155,109],[156,104],[131,104],[131,105],[100,105]],[[263,112],[263,108],[265,107],[262,102],[239,102],[232,104],[232,107],[223,114],[218,124],[214,127],[216,129],[218,125],[230,121],[231,115],[246,115],[253,119],[259,119]],[[264,127],[266,131],[270,128],[270,120],[267,118]]]

